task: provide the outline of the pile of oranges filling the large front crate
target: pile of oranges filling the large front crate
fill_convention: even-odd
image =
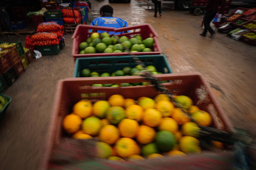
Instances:
[[[154,99],[81,100],[63,120],[63,128],[77,139],[98,138],[97,155],[115,161],[185,156],[201,151],[199,126],[210,126],[209,113],[192,105],[187,96],[174,101],[164,94]]]

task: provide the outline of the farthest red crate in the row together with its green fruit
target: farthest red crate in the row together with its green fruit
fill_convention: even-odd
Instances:
[[[72,55],[80,57],[160,54],[157,34],[148,24],[124,28],[78,25],[72,36]],[[125,47],[129,50],[125,50]]]

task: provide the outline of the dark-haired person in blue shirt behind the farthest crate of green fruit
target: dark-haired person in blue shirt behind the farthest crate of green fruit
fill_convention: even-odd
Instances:
[[[103,5],[100,8],[100,17],[95,18],[91,25],[93,26],[102,26],[102,27],[114,27],[114,28],[122,28],[128,27],[128,24],[125,20],[121,18],[113,17],[113,8],[110,5]],[[91,30],[93,31],[93,30]],[[102,33],[105,31],[97,31],[98,33]],[[109,32],[109,34],[113,34],[114,32]],[[114,33],[120,34],[120,33]]]

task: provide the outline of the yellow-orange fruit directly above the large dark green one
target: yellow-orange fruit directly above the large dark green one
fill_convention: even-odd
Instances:
[[[178,123],[172,118],[163,118],[158,125],[159,130],[168,130],[175,133],[179,129]]]

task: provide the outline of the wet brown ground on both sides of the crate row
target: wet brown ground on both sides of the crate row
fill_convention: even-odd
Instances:
[[[92,1],[89,21],[98,16],[108,1]],[[201,37],[203,16],[188,11],[163,9],[154,18],[153,10],[142,2],[111,3],[114,16],[129,25],[151,24],[157,32],[163,54],[174,73],[200,72],[210,83],[217,100],[236,128],[256,136],[256,47],[232,40],[226,34]],[[1,37],[0,41],[25,37]],[[26,72],[4,94],[12,97],[6,115],[0,120],[0,169],[37,169],[44,152],[55,86],[59,79],[73,76],[71,35],[58,55],[45,55],[33,61]]]

